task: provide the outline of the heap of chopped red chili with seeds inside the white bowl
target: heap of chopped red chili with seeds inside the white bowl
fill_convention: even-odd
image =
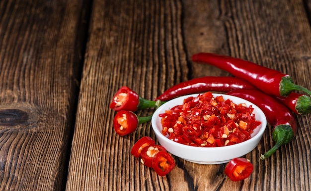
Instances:
[[[261,124],[255,120],[253,107],[235,104],[211,92],[184,99],[159,114],[162,134],[168,139],[191,146],[216,147],[244,142]]]

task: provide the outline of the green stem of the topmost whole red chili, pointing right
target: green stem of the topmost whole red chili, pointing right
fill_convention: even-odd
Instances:
[[[305,87],[294,84],[293,79],[290,76],[285,76],[280,82],[280,95],[288,96],[293,91],[302,91],[311,95],[311,91]]]

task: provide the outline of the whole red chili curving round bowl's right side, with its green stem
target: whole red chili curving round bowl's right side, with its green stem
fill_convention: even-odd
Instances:
[[[297,132],[297,122],[291,110],[274,97],[268,96],[258,90],[233,90],[228,93],[246,99],[257,105],[272,125],[272,138],[275,145],[260,156],[261,159],[270,157],[281,145],[289,143]]]

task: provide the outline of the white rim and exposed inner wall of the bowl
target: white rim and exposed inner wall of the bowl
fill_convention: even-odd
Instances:
[[[263,111],[262,111],[257,105],[255,105],[254,103],[252,103],[252,102],[250,102],[250,101],[248,101],[248,100],[246,100],[246,99],[243,99],[243,98],[240,98],[240,97],[237,97],[237,96],[231,96],[231,95],[219,94],[219,93],[212,93],[212,94],[213,94],[214,97],[216,97],[216,96],[224,96],[225,99],[229,98],[229,99],[231,99],[231,100],[232,100],[232,99],[234,99],[234,100],[235,100],[235,99],[239,100],[239,101],[237,101],[237,102],[232,100],[235,104],[238,104],[238,103],[245,103],[247,106],[252,105],[252,107],[254,108],[254,111],[258,112],[258,114],[256,114],[256,116],[257,116],[257,115],[260,115],[260,116],[263,117],[263,121],[261,121],[259,131],[256,132],[255,135],[254,135],[254,132],[251,133],[251,138],[250,138],[249,140],[244,141],[244,142],[236,143],[236,144],[232,144],[232,145],[227,145],[227,146],[216,146],[216,147],[191,146],[191,145],[186,145],[186,144],[182,144],[182,143],[177,143],[177,142],[174,142],[174,141],[168,139],[168,138],[167,138],[166,136],[164,136],[164,135],[159,131],[159,129],[157,128],[156,122],[157,122],[158,119],[161,119],[161,117],[159,117],[158,115],[159,115],[160,113],[163,113],[162,110],[163,110],[164,108],[167,108],[167,107],[168,107],[167,105],[170,105],[170,104],[172,104],[173,102],[176,102],[176,101],[177,101],[177,103],[173,105],[173,106],[175,106],[175,105],[182,104],[182,102],[180,103],[180,101],[183,101],[185,98],[187,98],[187,97],[189,97],[189,96],[198,96],[198,95],[202,95],[202,94],[190,94],[190,95],[186,95],[186,96],[179,96],[179,97],[173,98],[173,99],[171,99],[171,100],[169,100],[169,101],[163,103],[161,106],[159,106],[159,107],[156,109],[155,113],[154,113],[153,116],[152,116],[151,122],[152,122],[152,128],[153,128],[153,130],[154,130],[154,132],[155,132],[155,134],[156,134],[157,139],[158,139],[158,136],[159,136],[160,138],[162,138],[162,139],[165,138],[166,140],[165,140],[165,139],[164,139],[164,140],[167,141],[168,143],[170,143],[170,144],[172,144],[172,145],[175,145],[175,146],[178,146],[178,147],[186,148],[186,149],[190,149],[190,148],[191,148],[191,149],[193,149],[193,150],[198,150],[198,151],[213,151],[213,150],[218,150],[218,151],[219,151],[219,150],[223,150],[223,149],[224,149],[224,150],[227,150],[227,149],[234,149],[234,148],[236,148],[236,147],[240,147],[240,146],[243,146],[243,145],[248,144],[248,143],[250,143],[250,142],[253,142],[253,140],[256,140],[256,138],[262,137],[262,135],[263,135],[263,133],[264,133],[264,131],[265,131],[265,129],[266,129],[266,126],[267,126],[267,118],[266,118],[265,114],[263,113]],[[168,109],[170,109],[170,108],[171,108],[171,107],[168,107]],[[165,112],[165,110],[167,110],[167,109],[164,109],[163,111]],[[255,116],[255,117],[256,117],[256,116]],[[258,127],[259,127],[259,126],[258,126]],[[256,127],[254,130],[256,130],[258,127]],[[160,128],[162,128],[162,127],[160,127]]]

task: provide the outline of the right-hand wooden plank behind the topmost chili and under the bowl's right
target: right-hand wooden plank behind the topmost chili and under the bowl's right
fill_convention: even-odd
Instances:
[[[297,84],[311,89],[311,31],[303,1],[231,0],[220,1],[218,6],[214,1],[183,2],[184,7],[188,7],[185,15],[190,15],[185,16],[184,23],[188,55],[207,51],[247,59],[287,73]],[[202,7],[206,8],[205,11],[193,11],[203,10]],[[192,63],[192,67],[198,71],[197,76],[213,75],[210,66]],[[255,167],[250,179],[238,183],[232,183],[223,176],[218,183],[213,178],[199,179],[196,183],[198,190],[204,190],[202,187],[211,190],[310,190],[311,137],[308,129],[311,117],[297,116],[297,120],[299,130],[296,138],[271,158],[262,161],[258,159],[260,154],[274,144],[269,126],[257,149],[246,155]],[[210,170],[217,173],[210,176],[219,175],[224,167],[211,167]],[[195,169],[198,174],[208,170],[201,166]]]

